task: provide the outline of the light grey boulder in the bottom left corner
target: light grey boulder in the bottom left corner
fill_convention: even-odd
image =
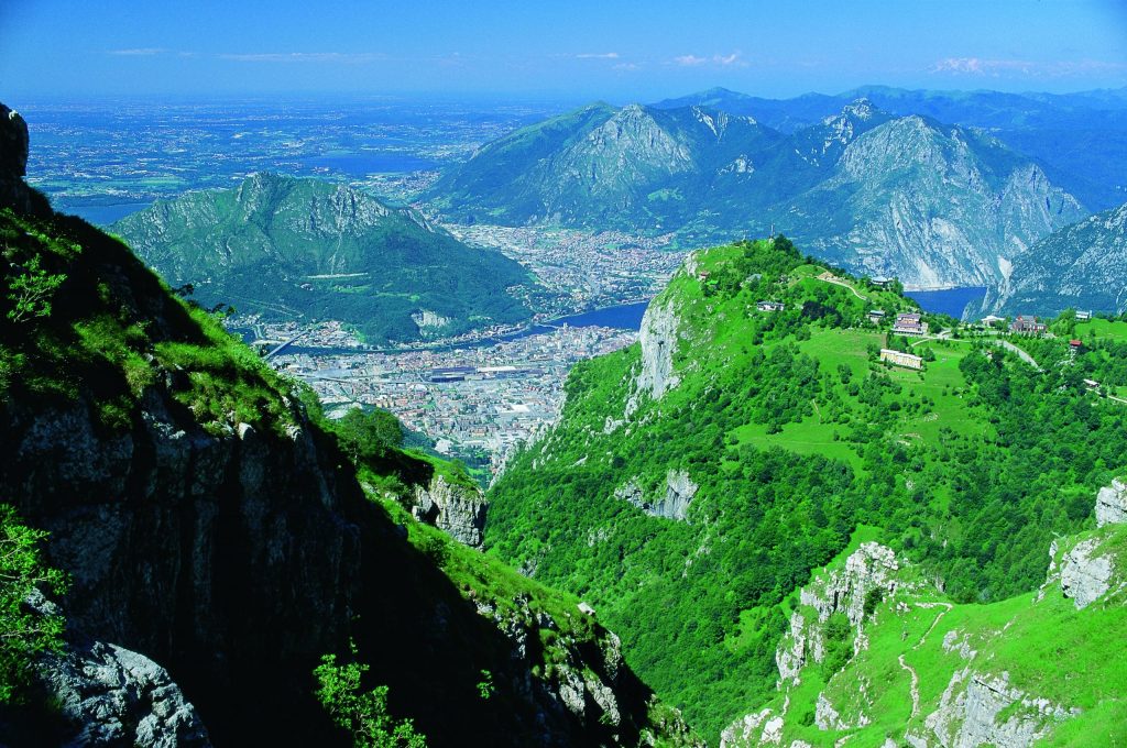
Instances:
[[[73,745],[211,746],[179,686],[143,654],[104,642],[72,645],[63,656],[44,657],[37,676],[62,716],[79,727]]]

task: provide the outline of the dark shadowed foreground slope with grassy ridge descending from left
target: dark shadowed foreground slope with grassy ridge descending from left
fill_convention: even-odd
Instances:
[[[354,745],[314,697],[326,654],[388,687],[356,716],[431,746],[696,742],[577,597],[412,518],[476,511],[463,471],[402,449],[388,413],[326,421],[7,155],[0,501],[71,584],[64,659],[0,704],[6,745],[205,745],[193,712],[216,745]]]

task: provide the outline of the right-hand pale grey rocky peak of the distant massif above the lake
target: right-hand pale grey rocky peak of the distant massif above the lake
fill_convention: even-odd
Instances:
[[[796,235],[816,253],[932,287],[995,283],[1029,246],[1084,215],[997,141],[919,116],[850,142],[833,176],[797,204],[807,220]]]

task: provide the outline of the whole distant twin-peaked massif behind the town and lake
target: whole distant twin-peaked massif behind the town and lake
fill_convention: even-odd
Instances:
[[[729,109],[762,101],[708,94],[704,104]],[[797,126],[826,98],[804,97],[786,122]],[[921,287],[990,285],[1088,213],[996,137],[869,99],[791,133],[672,104],[596,104],[518,130],[428,197],[460,221],[676,232],[691,246],[773,226],[855,273]]]

